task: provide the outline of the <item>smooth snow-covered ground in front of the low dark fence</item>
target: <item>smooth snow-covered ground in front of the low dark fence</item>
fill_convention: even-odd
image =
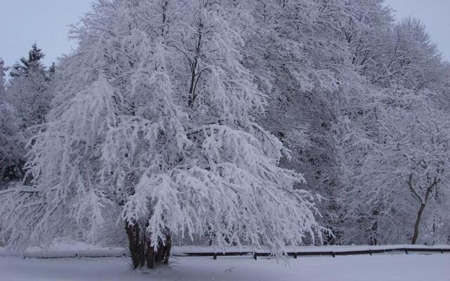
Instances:
[[[2,281],[446,281],[450,254],[377,254],[373,256],[311,256],[276,261],[249,256],[175,257],[156,270],[131,270],[120,258],[20,259],[0,257]]]

